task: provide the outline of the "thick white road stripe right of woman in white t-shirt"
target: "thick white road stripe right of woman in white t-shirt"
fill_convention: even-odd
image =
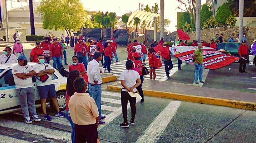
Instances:
[[[155,118],[144,133],[139,137],[136,143],[154,143],[163,133],[175,113],[179,108],[180,101],[171,101],[165,109]]]

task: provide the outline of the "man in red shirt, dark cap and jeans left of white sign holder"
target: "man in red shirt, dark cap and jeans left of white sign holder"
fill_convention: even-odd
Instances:
[[[86,44],[83,43],[83,38],[78,38],[78,43],[75,46],[74,49],[74,56],[77,55],[78,62],[83,63],[85,66],[85,69],[87,70],[87,58],[86,58],[86,52],[88,52],[88,47]]]

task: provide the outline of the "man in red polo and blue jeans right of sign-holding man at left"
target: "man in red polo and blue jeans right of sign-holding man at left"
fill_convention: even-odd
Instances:
[[[57,67],[58,68],[61,67],[63,51],[62,51],[62,46],[57,41],[57,38],[53,38],[53,44],[51,44],[49,50],[50,50],[50,59],[53,60],[53,68],[57,69]]]

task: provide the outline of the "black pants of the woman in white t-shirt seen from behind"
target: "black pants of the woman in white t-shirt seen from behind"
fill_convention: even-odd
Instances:
[[[136,93],[136,92],[135,92]],[[123,110],[123,118],[124,123],[127,123],[127,104],[128,101],[130,102],[131,107],[131,120],[134,121],[135,114],[136,114],[136,98],[131,97],[127,91],[121,91],[121,104],[122,104],[122,110]]]

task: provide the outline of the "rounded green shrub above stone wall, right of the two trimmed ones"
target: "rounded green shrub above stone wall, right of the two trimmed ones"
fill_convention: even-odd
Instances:
[[[220,25],[220,27],[225,26],[227,19],[229,16],[232,15],[232,12],[230,11],[228,4],[223,3],[216,14],[216,22]]]

